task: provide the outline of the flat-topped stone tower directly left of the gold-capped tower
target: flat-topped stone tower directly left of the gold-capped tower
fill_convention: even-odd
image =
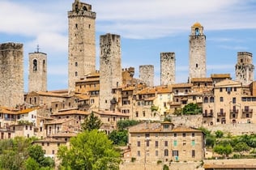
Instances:
[[[175,53],[160,53],[161,85],[175,83]]]

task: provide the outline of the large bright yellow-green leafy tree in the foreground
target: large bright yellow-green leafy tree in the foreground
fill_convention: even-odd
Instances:
[[[120,153],[115,151],[108,136],[98,130],[84,130],[70,139],[70,148],[59,147],[62,169],[118,169]]]

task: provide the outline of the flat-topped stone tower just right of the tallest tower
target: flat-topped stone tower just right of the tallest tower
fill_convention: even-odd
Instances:
[[[110,110],[117,102],[113,89],[122,87],[120,36],[100,36],[100,110]]]

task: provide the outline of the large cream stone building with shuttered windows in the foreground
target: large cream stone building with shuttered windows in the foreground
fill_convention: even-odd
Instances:
[[[142,123],[129,128],[130,159],[139,163],[204,159],[204,134],[169,121]],[[127,155],[127,154],[126,154]]]

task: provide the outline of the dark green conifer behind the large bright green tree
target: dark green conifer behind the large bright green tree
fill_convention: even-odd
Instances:
[[[100,118],[95,116],[92,112],[89,117],[87,117],[81,124],[82,130],[99,130],[102,122]]]

